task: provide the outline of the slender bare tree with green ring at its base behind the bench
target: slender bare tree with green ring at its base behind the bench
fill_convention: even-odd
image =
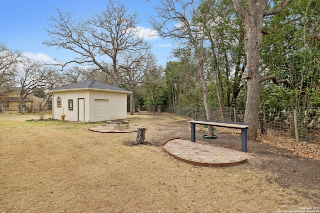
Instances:
[[[171,37],[179,42],[187,42],[192,46],[197,60],[197,71],[203,87],[203,105],[206,118],[211,119],[211,111],[208,103],[208,88],[204,74],[203,25],[192,21],[196,6],[194,0],[160,0],[154,9],[156,16],[150,18],[153,28],[162,37]],[[208,127],[208,137],[213,136],[212,127]]]

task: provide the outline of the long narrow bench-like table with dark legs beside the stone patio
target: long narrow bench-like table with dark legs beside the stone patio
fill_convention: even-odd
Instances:
[[[210,120],[201,120],[201,119],[194,119],[192,121],[187,121],[187,122],[191,124],[191,142],[195,142],[195,124],[241,129],[241,151],[247,152],[246,130],[250,125],[244,124],[244,123],[210,121]]]

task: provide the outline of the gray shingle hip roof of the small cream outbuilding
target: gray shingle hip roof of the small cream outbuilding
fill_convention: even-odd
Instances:
[[[128,92],[128,93],[130,93],[129,91],[127,91],[125,89],[121,89],[121,88],[116,87],[116,86],[111,86],[109,84],[105,84],[105,83],[102,83],[102,82],[97,81],[97,80],[83,81],[83,82],[80,82],[80,83],[76,83],[76,84],[71,84],[71,85],[55,88],[55,89],[52,89],[50,91],[67,90],[67,89],[84,89],[84,88],[114,90],[114,91],[119,91],[119,92]]]

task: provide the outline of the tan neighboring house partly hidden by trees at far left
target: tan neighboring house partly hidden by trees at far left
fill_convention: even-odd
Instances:
[[[19,110],[19,101],[20,101],[20,87],[11,88],[9,92],[4,93],[1,96],[1,103],[4,111],[18,111]],[[22,108],[34,109],[37,108],[38,104],[43,101],[43,98],[29,95],[23,100]],[[51,101],[48,103],[48,108],[50,109]]]

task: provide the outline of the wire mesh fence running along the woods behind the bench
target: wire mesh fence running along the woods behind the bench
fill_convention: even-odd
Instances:
[[[173,113],[192,119],[206,119],[204,108],[160,107],[160,111]],[[211,119],[215,121],[243,122],[244,108],[211,109]],[[306,141],[320,144],[320,108],[277,108],[260,107],[258,121],[260,135],[276,130],[281,135],[295,138],[296,142]]]

